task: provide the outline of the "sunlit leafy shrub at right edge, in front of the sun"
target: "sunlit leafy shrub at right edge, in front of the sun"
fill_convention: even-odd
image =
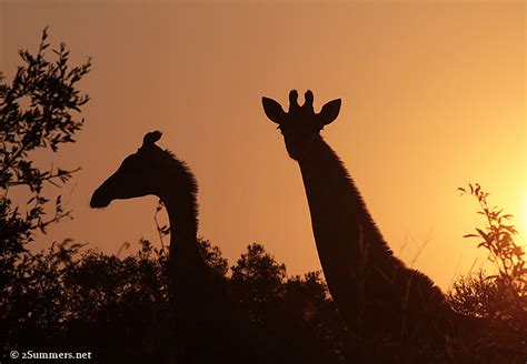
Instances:
[[[481,209],[478,214],[485,218],[485,226],[465,237],[479,240],[478,247],[488,252],[488,261],[495,269],[460,276],[448,293],[455,311],[483,317],[487,325],[474,347],[466,351],[478,362],[501,357],[509,363],[524,363],[527,360],[527,267],[525,252],[514,240],[516,229],[508,222],[513,216],[503,213],[503,209],[490,208],[489,194],[479,184],[459,190],[476,198]]]

